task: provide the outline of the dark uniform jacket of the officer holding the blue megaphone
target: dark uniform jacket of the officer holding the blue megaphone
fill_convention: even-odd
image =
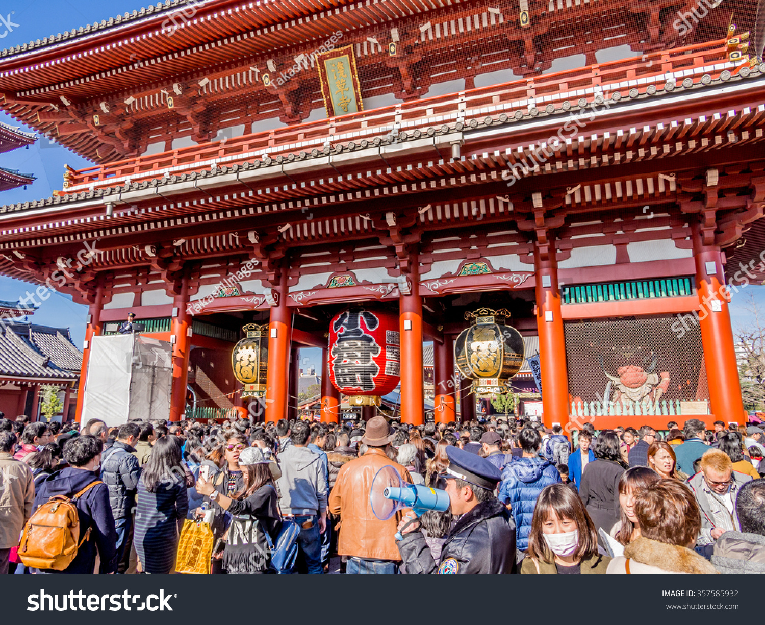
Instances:
[[[396,544],[410,574],[516,572],[516,525],[496,499],[460,517],[446,537],[438,564],[422,532],[409,532]]]

